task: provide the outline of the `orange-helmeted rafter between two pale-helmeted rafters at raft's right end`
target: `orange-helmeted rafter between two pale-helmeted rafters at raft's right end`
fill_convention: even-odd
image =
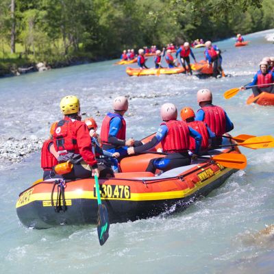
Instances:
[[[210,127],[203,121],[195,121],[195,113],[192,108],[182,108],[181,112],[182,121],[188,124],[196,132],[201,134],[201,147],[200,153],[206,153],[211,143],[215,143],[215,134],[211,131]],[[210,142],[211,141],[211,142]],[[193,138],[190,138],[190,151],[195,150],[195,142]]]

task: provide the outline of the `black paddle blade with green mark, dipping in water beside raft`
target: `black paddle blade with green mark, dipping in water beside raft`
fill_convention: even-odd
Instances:
[[[98,223],[97,232],[100,245],[103,245],[108,240],[108,229],[110,229],[110,222],[108,221],[108,210],[105,205],[98,205]]]

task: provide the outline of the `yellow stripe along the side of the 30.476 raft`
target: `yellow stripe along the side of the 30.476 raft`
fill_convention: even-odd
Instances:
[[[206,179],[204,182],[197,182],[194,188],[186,188],[184,190],[175,190],[175,191],[167,191],[167,192],[150,192],[150,193],[131,193],[129,199],[125,198],[103,198],[102,200],[123,200],[123,201],[157,201],[157,200],[164,200],[164,199],[182,199],[184,197],[188,197],[192,195],[197,190],[207,186],[208,184],[212,183],[221,175],[225,175],[232,169],[223,169],[223,171],[216,171],[212,177]],[[51,193],[50,192],[42,192],[42,193],[35,193],[32,194],[33,188],[27,190],[29,193],[28,195],[24,194],[19,197],[18,201],[16,202],[16,208],[20,208],[21,206],[25,206],[28,203],[32,203],[33,201],[47,201],[51,200]],[[21,199],[23,197],[23,199]],[[53,193],[53,201],[57,199],[57,192]],[[97,199],[95,197],[93,191],[84,191],[84,190],[75,190],[65,192],[65,199]],[[73,203],[73,201],[72,201]]]

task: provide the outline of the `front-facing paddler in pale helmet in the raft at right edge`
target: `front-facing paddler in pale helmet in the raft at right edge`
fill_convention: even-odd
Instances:
[[[266,61],[260,62],[260,71],[256,73],[253,77],[253,81],[248,84],[247,86],[242,86],[241,90],[247,90],[252,87],[252,92],[254,97],[260,95],[261,92],[269,92],[274,93],[274,86],[273,85],[267,85],[267,84],[273,84],[274,82],[274,73],[272,71],[269,71],[269,63]],[[258,85],[258,86],[255,86]],[[263,86],[260,86],[263,85]]]

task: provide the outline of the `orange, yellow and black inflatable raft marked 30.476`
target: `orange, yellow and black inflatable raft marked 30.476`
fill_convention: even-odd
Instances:
[[[235,147],[211,151],[240,153]],[[114,178],[99,179],[102,203],[110,223],[135,221],[187,208],[199,195],[208,195],[235,173],[210,160],[192,162],[159,176],[145,172],[149,160],[160,155],[133,155],[121,160]],[[64,182],[49,179],[33,184],[19,195],[16,212],[26,227],[97,223],[97,195],[94,179]]]

